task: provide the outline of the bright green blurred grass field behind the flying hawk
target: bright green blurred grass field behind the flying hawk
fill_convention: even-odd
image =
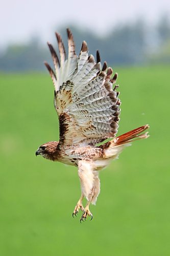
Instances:
[[[149,123],[100,173],[93,220],[71,214],[80,196],[77,168],[35,157],[58,140],[47,74],[0,75],[0,255],[166,256],[170,244],[169,80],[164,67],[117,68],[122,113],[118,135]]]

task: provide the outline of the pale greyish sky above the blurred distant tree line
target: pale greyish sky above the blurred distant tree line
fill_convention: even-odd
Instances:
[[[170,0],[0,0],[0,4],[0,47],[37,34],[45,43],[58,27],[69,24],[102,34],[140,17],[154,24],[163,13],[170,16]]]

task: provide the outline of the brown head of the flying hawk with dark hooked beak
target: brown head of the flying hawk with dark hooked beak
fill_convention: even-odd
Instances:
[[[57,160],[57,156],[58,156],[58,150],[57,150],[57,146],[58,146],[59,141],[50,141],[50,142],[46,142],[44,144],[42,144],[38,150],[35,152],[35,155],[41,155],[42,157],[55,161]]]

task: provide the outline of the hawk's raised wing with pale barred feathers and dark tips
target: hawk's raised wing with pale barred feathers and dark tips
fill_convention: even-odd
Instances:
[[[68,58],[66,59],[62,39],[56,33],[60,60],[48,43],[55,66],[55,73],[45,62],[55,87],[55,109],[60,122],[60,145],[90,144],[115,137],[119,121],[120,100],[117,86],[112,89],[117,74],[104,62],[103,68],[97,51],[96,62],[88,55],[87,44],[83,41],[79,56],[69,29]],[[106,72],[107,71],[107,72]]]

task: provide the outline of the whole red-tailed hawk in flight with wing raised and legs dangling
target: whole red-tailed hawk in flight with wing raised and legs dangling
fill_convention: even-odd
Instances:
[[[68,57],[61,36],[56,33],[60,58],[48,44],[55,72],[45,63],[54,84],[54,106],[59,118],[59,141],[42,144],[36,156],[78,167],[81,197],[72,216],[82,211],[81,221],[92,219],[89,205],[95,204],[100,193],[99,170],[118,157],[123,148],[137,139],[148,138],[143,125],[115,137],[120,114],[120,99],[115,85],[117,73],[107,63],[101,65],[99,51],[96,60],[88,54],[83,41],[79,56],[75,52],[72,33],[67,29]],[[114,86],[113,86],[114,85]],[[105,142],[110,138],[110,141]],[[103,143],[102,143],[103,142]],[[84,207],[83,198],[87,199]]]

